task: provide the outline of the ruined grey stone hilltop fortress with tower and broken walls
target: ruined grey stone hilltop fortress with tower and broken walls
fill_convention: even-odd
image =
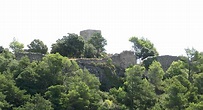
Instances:
[[[101,31],[100,30],[91,30],[91,29],[83,30],[83,31],[80,31],[80,36],[82,36],[87,41],[95,33],[101,33]],[[39,61],[39,60],[42,60],[42,57],[44,57],[43,54],[30,53],[30,52],[16,53],[15,56],[16,56],[17,60],[20,60],[24,56],[28,56],[28,58],[31,61],[34,61],[34,60]],[[109,58],[111,59],[113,65],[120,67],[122,69],[125,69],[129,66],[136,64],[136,56],[135,56],[134,52],[132,52],[132,51],[123,51],[120,54],[114,54],[114,55],[108,56],[107,58],[102,58],[102,59],[78,58],[75,60],[79,65],[85,66],[88,64],[92,64],[92,63],[94,63],[94,64],[107,63]],[[157,56],[155,59],[161,63],[163,70],[166,71],[173,61],[177,61],[180,58],[177,56],[165,55],[165,56]]]

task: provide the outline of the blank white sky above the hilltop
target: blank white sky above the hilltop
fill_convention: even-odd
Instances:
[[[1,0],[0,45],[15,37],[51,44],[67,33],[101,30],[107,53],[132,50],[129,38],[150,40],[160,55],[203,51],[202,0]]]

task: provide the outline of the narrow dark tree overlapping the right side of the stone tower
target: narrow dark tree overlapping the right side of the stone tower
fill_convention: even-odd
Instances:
[[[96,48],[96,57],[98,58],[101,56],[101,53],[105,51],[104,46],[107,45],[106,39],[102,37],[101,33],[94,34],[90,40],[89,43],[92,44]]]

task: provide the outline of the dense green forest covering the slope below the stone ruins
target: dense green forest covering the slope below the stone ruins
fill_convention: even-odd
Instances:
[[[104,75],[98,78],[59,53],[31,62],[28,57],[16,60],[1,47],[0,110],[202,110],[203,53],[186,53],[167,71],[150,61],[147,68],[137,64],[118,76],[110,60],[95,64],[105,74],[101,80]]]

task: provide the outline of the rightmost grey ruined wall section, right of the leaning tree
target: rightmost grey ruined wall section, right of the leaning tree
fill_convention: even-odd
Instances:
[[[173,63],[173,61],[178,61],[180,58],[177,56],[164,55],[158,56],[156,60],[161,63],[163,70],[166,71]]]

